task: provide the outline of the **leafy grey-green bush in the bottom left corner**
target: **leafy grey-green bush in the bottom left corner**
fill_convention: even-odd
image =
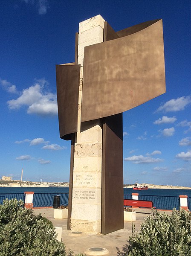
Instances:
[[[52,222],[23,208],[23,201],[0,205],[0,256],[65,256]]]

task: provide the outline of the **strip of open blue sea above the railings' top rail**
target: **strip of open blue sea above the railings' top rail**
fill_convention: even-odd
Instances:
[[[69,187],[0,187],[0,194],[8,193],[24,193],[25,191],[33,191],[36,193],[68,193]],[[139,193],[139,195],[158,195],[158,196],[179,196],[188,195],[191,197],[191,189],[148,189],[135,191],[130,188],[124,188],[124,195],[131,193]]]

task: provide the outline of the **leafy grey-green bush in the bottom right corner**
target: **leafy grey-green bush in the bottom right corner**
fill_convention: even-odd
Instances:
[[[171,215],[153,212],[135,234],[132,225],[128,256],[191,256],[191,213],[174,209]]]

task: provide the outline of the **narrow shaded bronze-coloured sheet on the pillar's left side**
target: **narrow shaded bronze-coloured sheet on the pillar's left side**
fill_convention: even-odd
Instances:
[[[59,130],[64,140],[77,132],[79,80],[80,65],[56,65]]]

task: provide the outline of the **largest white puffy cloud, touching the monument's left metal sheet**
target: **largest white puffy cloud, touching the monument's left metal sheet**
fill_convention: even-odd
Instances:
[[[57,115],[57,98],[53,93],[43,91],[46,80],[41,79],[27,89],[24,89],[21,96],[17,99],[9,100],[9,109],[20,109],[27,106],[28,114],[37,114],[41,116]]]

